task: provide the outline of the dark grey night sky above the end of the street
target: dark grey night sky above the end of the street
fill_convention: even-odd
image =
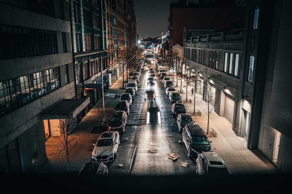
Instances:
[[[187,3],[190,0],[187,0]],[[167,32],[169,3],[177,0],[134,0],[134,10],[137,17],[137,31],[140,38],[161,37]]]

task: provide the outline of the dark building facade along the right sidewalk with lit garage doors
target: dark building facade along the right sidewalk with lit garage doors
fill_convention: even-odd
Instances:
[[[291,74],[289,6],[285,0],[249,1],[244,29],[199,36],[184,30],[184,70],[198,77],[196,92],[207,101],[209,91],[214,111],[232,123],[247,148],[259,150],[284,173],[292,171],[286,103],[291,87],[280,81]]]

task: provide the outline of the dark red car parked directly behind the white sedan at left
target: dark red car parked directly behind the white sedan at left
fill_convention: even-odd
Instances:
[[[107,124],[107,130],[124,132],[126,130],[127,121],[128,116],[125,111],[116,111],[108,120],[109,124]]]

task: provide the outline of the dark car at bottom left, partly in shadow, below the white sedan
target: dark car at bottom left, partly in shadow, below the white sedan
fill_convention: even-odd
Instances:
[[[107,176],[109,171],[103,162],[87,162],[85,163],[78,175],[80,176]]]

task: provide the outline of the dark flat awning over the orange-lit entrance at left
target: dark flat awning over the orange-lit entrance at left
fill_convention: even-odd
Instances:
[[[89,97],[83,99],[63,99],[61,102],[41,113],[41,119],[73,119],[89,103]]]

